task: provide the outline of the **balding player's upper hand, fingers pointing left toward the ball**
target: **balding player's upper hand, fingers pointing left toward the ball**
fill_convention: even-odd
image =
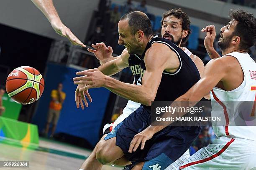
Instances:
[[[104,87],[105,78],[107,77],[97,68],[79,71],[77,72],[77,75],[81,76],[73,78],[74,84],[85,85],[84,87],[79,88],[80,92],[90,88]]]

